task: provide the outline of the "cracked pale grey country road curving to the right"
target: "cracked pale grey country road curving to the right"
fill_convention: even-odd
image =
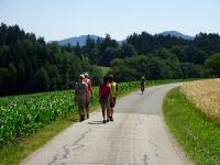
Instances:
[[[162,117],[163,99],[179,86],[146,88],[117,101],[114,121],[102,124],[101,111],[75,123],[24,160],[26,165],[186,165]]]

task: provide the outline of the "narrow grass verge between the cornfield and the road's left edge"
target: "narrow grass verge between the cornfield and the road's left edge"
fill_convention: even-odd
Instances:
[[[150,80],[147,81],[147,86],[156,86],[164,85],[170,82],[179,82],[185,81],[183,79],[178,80]],[[140,89],[140,82],[131,82],[128,88],[123,87],[123,90],[120,92],[120,97],[127,96],[132,91]],[[95,111],[99,108],[98,102],[94,102],[91,107],[91,111]],[[58,118],[53,123],[42,128],[36,133],[30,135],[29,138],[23,139],[22,141],[8,143],[0,147],[0,165],[16,165],[26,156],[32,154],[34,151],[43,146],[46,142],[52,140],[56,134],[61,131],[65,130],[73,123],[78,122],[78,112],[73,111],[66,118]]]

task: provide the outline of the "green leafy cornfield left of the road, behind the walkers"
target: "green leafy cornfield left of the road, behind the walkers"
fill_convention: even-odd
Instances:
[[[140,82],[119,84],[120,94],[139,87]],[[98,103],[98,87],[94,88],[94,103]],[[38,129],[65,118],[77,107],[73,90],[51,91],[0,98],[0,144],[18,141]]]

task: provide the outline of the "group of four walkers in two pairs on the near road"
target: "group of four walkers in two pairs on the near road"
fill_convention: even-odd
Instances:
[[[113,81],[113,75],[105,76],[103,82],[99,87],[99,102],[102,109],[103,123],[113,121],[113,108],[118,85]],[[89,119],[89,106],[92,100],[92,87],[88,73],[79,75],[78,82],[75,84],[75,101],[79,110],[79,121]]]

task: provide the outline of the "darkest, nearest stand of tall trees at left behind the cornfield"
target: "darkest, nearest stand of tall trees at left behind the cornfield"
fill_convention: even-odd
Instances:
[[[101,70],[75,52],[75,47],[46,44],[43,37],[36,38],[18,25],[1,23],[0,95],[69,89],[84,72],[99,84]]]

